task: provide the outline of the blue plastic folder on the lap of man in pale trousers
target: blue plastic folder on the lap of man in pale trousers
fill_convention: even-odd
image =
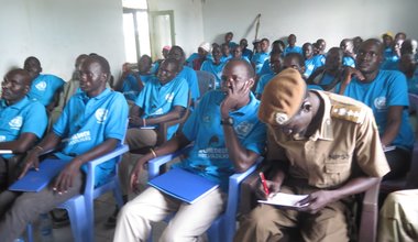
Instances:
[[[173,168],[150,180],[148,185],[190,205],[219,187],[219,184],[182,168]]]

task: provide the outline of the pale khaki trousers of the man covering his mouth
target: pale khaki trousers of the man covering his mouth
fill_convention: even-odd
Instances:
[[[160,222],[176,212],[169,220],[160,241],[199,241],[212,221],[224,210],[226,194],[219,188],[196,204],[188,205],[150,187],[119,212],[114,242],[146,241],[151,222]]]

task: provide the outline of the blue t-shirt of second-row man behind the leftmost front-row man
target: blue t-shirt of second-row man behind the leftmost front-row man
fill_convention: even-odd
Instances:
[[[65,81],[54,75],[40,74],[33,81],[28,97],[31,100],[37,100],[43,106],[53,101],[55,92],[64,86]]]

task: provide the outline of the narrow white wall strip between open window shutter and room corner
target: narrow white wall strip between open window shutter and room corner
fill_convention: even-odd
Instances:
[[[204,38],[201,0],[148,0],[150,11],[174,10],[175,44],[190,55]]]

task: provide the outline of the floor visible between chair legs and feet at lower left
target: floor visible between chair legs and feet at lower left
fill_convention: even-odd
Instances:
[[[96,242],[110,242],[113,240],[114,229],[105,226],[106,220],[112,215],[114,210],[114,199],[111,193],[106,194],[95,200],[95,241]],[[165,223],[156,223],[153,226],[153,241],[157,241],[161,232],[164,230]],[[59,229],[53,229],[54,241],[73,242],[73,233],[70,226]],[[37,224],[34,224],[34,240],[41,241]]]

